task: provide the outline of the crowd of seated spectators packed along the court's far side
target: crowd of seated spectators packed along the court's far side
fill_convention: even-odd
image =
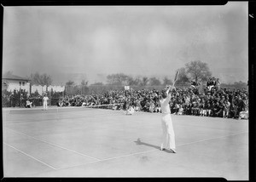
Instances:
[[[203,92],[199,92],[198,83],[191,82],[189,88],[172,90],[170,108],[173,114],[201,117],[248,117],[248,92],[245,88],[220,88],[218,78],[211,77]],[[105,94],[74,95],[61,98],[59,106],[112,105],[113,110],[133,108],[134,111],[160,112],[160,91],[110,90]],[[109,108],[106,106],[106,108]]]

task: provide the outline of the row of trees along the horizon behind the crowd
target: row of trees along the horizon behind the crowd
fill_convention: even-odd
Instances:
[[[179,77],[177,79],[177,84],[189,84],[191,81],[195,82],[207,82],[208,77],[212,77],[212,72],[210,71],[207,63],[202,62],[201,60],[191,61],[177,69],[179,71]],[[12,72],[8,71],[8,74]],[[40,74],[38,72],[32,73],[29,77],[32,84],[46,85],[49,86],[52,84],[53,79],[50,75],[44,73]],[[107,76],[107,83],[103,82],[94,82],[90,86],[103,86],[103,85],[132,85],[132,86],[166,86],[172,84],[172,78],[164,77],[160,80],[157,77],[131,77],[125,75],[124,73],[115,73]],[[244,82],[235,82],[239,85],[244,85]],[[234,83],[234,84],[235,84]],[[224,84],[224,83],[223,83]],[[86,88],[89,86],[89,82],[82,80],[79,84],[76,84],[74,81],[69,80],[65,84],[67,87],[81,86]],[[232,84],[230,84],[232,85]],[[225,84],[228,86],[228,84]]]

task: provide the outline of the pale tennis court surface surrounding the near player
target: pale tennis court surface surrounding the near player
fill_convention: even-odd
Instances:
[[[160,113],[3,109],[4,177],[248,179],[248,121],[172,115],[177,153],[160,151]]]

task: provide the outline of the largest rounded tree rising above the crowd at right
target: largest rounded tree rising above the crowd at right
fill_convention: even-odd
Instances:
[[[207,78],[212,76],[207,63],[201,60],[191,61],[185,65],[185,68],[189,78],[195,82],[207,81]]]

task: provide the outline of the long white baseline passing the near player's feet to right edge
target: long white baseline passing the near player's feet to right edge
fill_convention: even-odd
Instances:
[[[240,134],[247,134],[247,132],[240,133]],[[240,134],[230,134],[230,135],[225,135],[225,136],[222,136],[222,137],[217,137],[217,138],[212,138],[212,139],[221,139],[221,138],[226,138],[226,137],[240,135]],[[198,141],[184,143],[184,144],[180,144],[180,145],[177,145],[177,146],[190,145],[190,144],[195,144],[195,143],[199,143],[199,142],[202,142],[202,141],[208,141],[208,140],[212,140],[212,139],[201,139],[201,140],[198,140]],[[122,157],[125,157],[125,156],[135,156],[135,155],[138,155],[138,154],[148,153],[148,152],[151,152],[151,151],[160,151],[160,150],[159,149],[153,149],[153,150],[150,150],[150,151],[141,151],[141,152],[136,152],[136,153],[132,153],[132,154],[127,154],[127,155],[124,155],[124,156],[114,156],[114,157],[102,159],[102,160],[99,160],[99,161],[96,161],[96,162],[109,161],[109,160],[112,160],[112,159],[122,158]],[[66,167],[66,168],[74,168],[74,167],[84,166],[86,164],[96,163],[96,162],[86,162],[84,164],[74,165],[74,166],[70,166],[70,167]],[[57,170],[66,169],[66,168],[57,168]]]

